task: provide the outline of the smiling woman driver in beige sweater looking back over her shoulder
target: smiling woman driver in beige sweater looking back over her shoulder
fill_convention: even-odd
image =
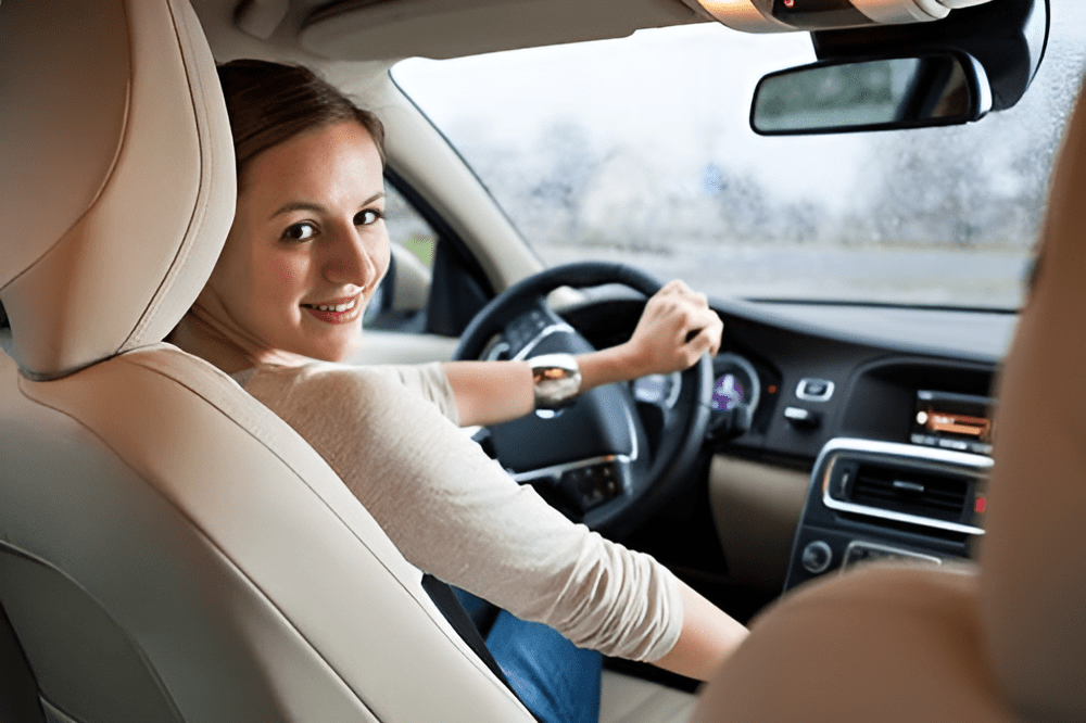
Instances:
[[[376,116],[304,68],[238,61],[220,78],[237,213],[171,341],[232,375],[301,433],[420,569],[578,646],[706,680],[745,629],[652,558],[514,484],[451,423],[560,404],[534,383],[531,363],[328,364],[358,347],[363,310],[389,265]],[[629,342],[577,358],[573,391],[687,368],[717,351],[720,331],[705,297],[672,282],[649,300]]]

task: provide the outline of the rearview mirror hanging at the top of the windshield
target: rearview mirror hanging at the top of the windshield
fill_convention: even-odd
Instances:
[[[767,75],[750,127],[762,136],[969,123],[992,109],[987,76],[967,53],[823,61]]]

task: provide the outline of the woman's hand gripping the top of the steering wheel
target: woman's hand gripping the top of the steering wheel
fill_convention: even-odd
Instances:
[[[621,345],[627,359],[623,376],[635,379],[689,369],[706,352],[717,353],[723,328],[705,294],[671,281],[648,300],[633,335]]]

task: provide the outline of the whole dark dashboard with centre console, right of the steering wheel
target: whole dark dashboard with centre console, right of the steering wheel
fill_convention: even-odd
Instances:
[[[699,579],[774,594],[861,561],[944,565],[974,554],[992,389],[1016,315],[711,303],[724,332],[707,484],[634,545]],[[567,318],[580,329],[576,313]],[[582,332],[597,346],[619,341]],[[633,392],[659,399],[673,380],[640,380]],[[698,534],[692,520],[703,511],[710,531]]]

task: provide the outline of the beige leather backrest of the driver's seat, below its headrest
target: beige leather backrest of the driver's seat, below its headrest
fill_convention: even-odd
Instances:
[[[182,720],[531,720],[324,460],[210,365],[160,344],[3,372],[4,538],[126,631]],[[48,683],[88,675],[79,642],[30,649],[48,610],[0,595],[74,714]]]

